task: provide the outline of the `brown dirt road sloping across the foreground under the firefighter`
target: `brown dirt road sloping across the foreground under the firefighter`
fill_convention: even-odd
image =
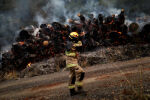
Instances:
[[[1,82],[0,100],[113,100],[150,94],[150,57],[89,66],[85,71],[87,95],[69,96],[64,71]]]

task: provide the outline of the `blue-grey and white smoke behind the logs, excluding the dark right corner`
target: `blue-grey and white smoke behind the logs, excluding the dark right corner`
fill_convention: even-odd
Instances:
[[[61,22],[66,24],[68,19],[78,19],[77,14],[94,14],[96,17],[99,13],[108,16],[117,13],[111,2],[105,1],[107,7],[100,6],[99,0],[16,0],[13,1],[13,8],[8,11],[0,12],[0,48],[5,50],[8,45],[14,41],[17,31],[20,27],[30,26],[37,23]],[[9,3],[9,2],[8,2]],[[10,4],[11,5],[11,4]],[[3,7],[3,6],[2,6]],[[106,9],[107,8],[107,9]]]

